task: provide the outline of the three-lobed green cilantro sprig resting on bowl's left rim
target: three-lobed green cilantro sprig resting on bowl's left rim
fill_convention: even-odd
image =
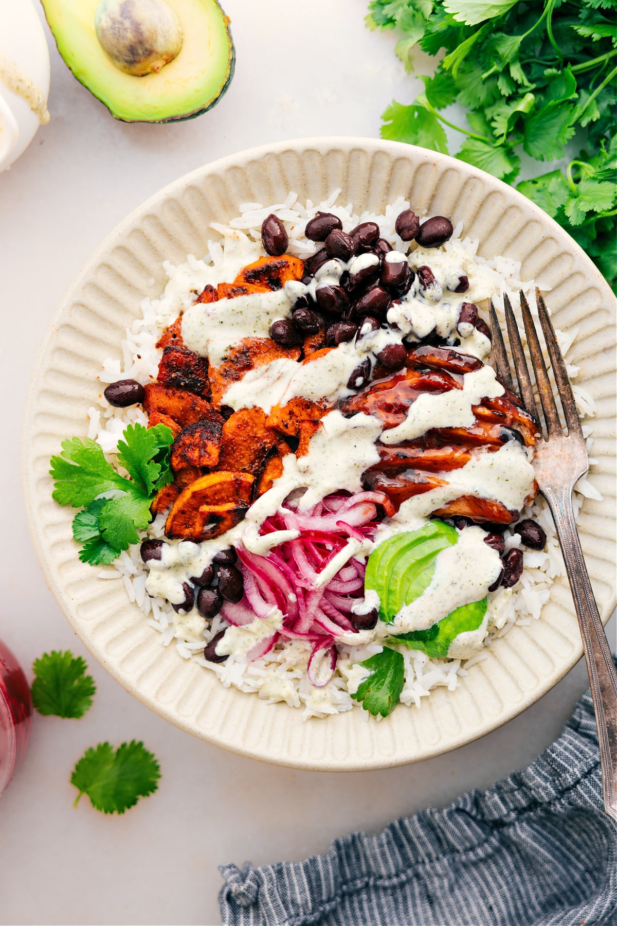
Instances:
[[[117,461],[130,479],[107,462],[101,446],[90,438],[68,438],[62,454],[51,458],[53,497],[60,505],[83,507],[73,519],[73,537],[82,544],[80,560],[93,566],[112,563],[122,550],[138,543],[137,532],[152,520],[154,495],[173,479],[173,434],[166,425],[130,424],[123,437],[117,444]]]

